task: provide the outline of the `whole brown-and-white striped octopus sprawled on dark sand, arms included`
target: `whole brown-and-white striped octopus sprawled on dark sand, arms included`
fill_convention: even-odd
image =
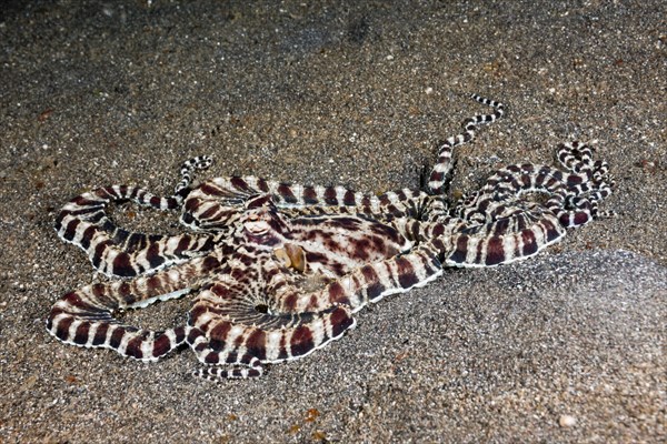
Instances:
[[[209,380],[255,377],[265,364],[302,357],[351,329],[369,302],[437,279],[445,266],[494,266],[526,259],[568,228],[604,215],[610,194],[606,162],[590,147],[559,148],[560,169],[516,164],[497,171],[451,208],[445,185],[452,149],[504,105],[464,122],[439,147],[425,190],[381,195],[260,178],[216,178],[192,186],[206,157],[187,161],[175,194],[136,186],[100,188],[72,199],[56,230],[87,252],[110,280],[56,302],[47,330],[58,340],[157,361],[187,344]],[[541,199],[534,199],[538,194]],[[132,201],[181,211],[189,232],[143,234],[116,225],[110,203]],[[166,331],[127,325],[128,309],[193,295],[187,322]]]

